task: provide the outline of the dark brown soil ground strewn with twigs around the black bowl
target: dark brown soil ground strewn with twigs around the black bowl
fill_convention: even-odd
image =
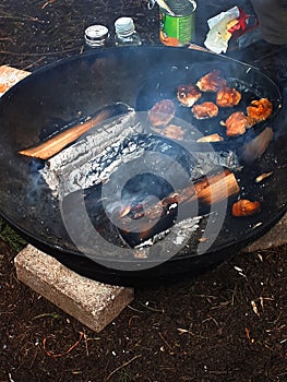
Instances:
[[[81,52],[84,26],[96,12],[108,16],[111,3],[2,0],[1,64],[34,70]],[[122,1],[125,9],[145,20],[142,1]],[[10,240],[0,239],[0,382],[287,381],[287,246],[237,254],[190,282],[136,288],[96,334],[17,280],[19,247],[5,229],[0,224]]]

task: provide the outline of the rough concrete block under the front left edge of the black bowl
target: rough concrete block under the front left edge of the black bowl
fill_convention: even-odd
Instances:
[[[133,300],[132,288],[94,282],[70,271],[33,246],[15,258],[17,278],[95,332]]]

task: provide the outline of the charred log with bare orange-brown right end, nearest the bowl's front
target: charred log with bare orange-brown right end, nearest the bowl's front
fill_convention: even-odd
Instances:
[[[162,218],[172,220],[174,211],[179,204],[188,204],[198,200],[205,205],[212,205],[238,194],[239,191],[235,175],[226,169],[220,174],[204,177],[180,191],[172,192],[153,205],[146,207],[143,205],[129,206],[129,210],[125,206],[120,213],[118,222],[124,231],[141,231],[143,235],[142,231],[148,231],[145,228],[151,226],[153,220]]]

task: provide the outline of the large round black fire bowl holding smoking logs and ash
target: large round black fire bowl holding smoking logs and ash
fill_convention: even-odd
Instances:
[[[183,140],[153,129],[155,103],[219,67],[246,103],[251,95],[272,102],[270,118],[243,135],[202,143],[199,134],[224,129],[227,110],[210,123],[177,106],[174,122]],[[115,112],[50,158],[20,154],[111,105]],[[279,89],[259,70],[206,52],[123,48],[61,61],[1,99],[1,214],[29,242],[98,280],[134,285],[198,275],[286,211],[280,105]],[[261,212],[232,216],[238,199],[259,201]]]

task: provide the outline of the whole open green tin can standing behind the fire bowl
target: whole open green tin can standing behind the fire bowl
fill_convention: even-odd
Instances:
[[[159,39],[168,46],[184,46],[192,41],[195,29],[194,0],[166,0],[170,11],[159,7]]]

